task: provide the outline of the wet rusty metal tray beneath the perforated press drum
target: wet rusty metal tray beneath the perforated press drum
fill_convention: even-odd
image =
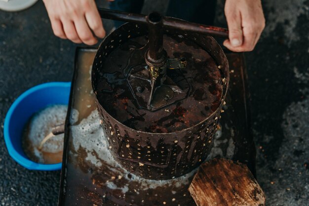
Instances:
[[[77,50],[58,206],[151,206],[164,202],[169,206],[195,206],[187,191],[195,170],[172,180],[147,180],[124,170],[108,152],[90,83],[95,52]],[[236,53],[227,57],[231,69],[227,104],[208,158],[245,163],[255,174],[244,60]]]

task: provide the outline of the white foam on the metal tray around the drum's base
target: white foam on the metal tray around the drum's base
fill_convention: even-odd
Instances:
[[[131,182],[138,182],[141,184],[141,188],[147,190],[149,188],[154,189],[156,187],[167,187],[175,185],[176,187],[181,187],[184,184],[189,184],[190,178],[194,175],[197,169],[194,169],[190,173],[183,175],[178,178],[169,179],[169,180],[151,180],[144,179],[135,174],[130,173],[119,165],[114,157],[112,156],[109,150],[109,144],[106,141],[106,137],[103,132],[103,128],[100,125],[99,114],[97,110],[92,111],[92,113],[86,118],[83,119],[80,124],[73,125],[71,127],[72,136],[73,136],[73,145],[77,151],[79,147],[85,149],[88,153],[88,156],[85,160],[88,160],[92,165],[100,167],[101,161],[105,162],[107,165],[110,165],[111,170],[119,172],[122,175],[122,178],[126,178]],[[96,152],[97,156],[89,155],[93,151]],[[128,178],[128,174],[131,175],[131,178]],[[121,189],[125,191],[126,188],[121,188],[115,185],[114,183],[107,182],[107,186],[111,189]]]

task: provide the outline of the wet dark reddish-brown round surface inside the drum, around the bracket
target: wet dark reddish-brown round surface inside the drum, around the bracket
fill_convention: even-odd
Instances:
[[[126,80],[130,69],[145,64],[146,36],[116,47],[102,62],[97,78],[97,98],[117,121],[146,132],[173,132],[204,121],[222,100],[222,77],[215,60],[195,42],[164,35],[168,58],[186,58],[182,73],[191,85],[188,96],[156,111],[140,108]],[[146,64],[145,64],[146,66]]]

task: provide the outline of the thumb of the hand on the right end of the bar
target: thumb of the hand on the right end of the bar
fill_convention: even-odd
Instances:
[[[243,43],[240,13],[228,12],[226,15],[229,28],[230,43],[234,47],[240,46]]]

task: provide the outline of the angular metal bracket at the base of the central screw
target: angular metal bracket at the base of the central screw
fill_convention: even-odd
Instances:
[[[131,92],[141,108],[151,111],[160,109],[186,98],[190,85],[182,74],[185,58],[167,59],[165,74],[154,79],[151,68],[146,65],[133,67],[127,77]]]

